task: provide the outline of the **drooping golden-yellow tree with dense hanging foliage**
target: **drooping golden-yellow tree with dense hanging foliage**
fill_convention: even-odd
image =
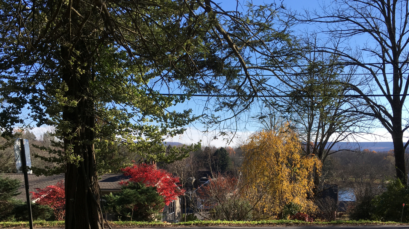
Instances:
[[[289,203],[301,211],[314,209],[312,172],[321,168],[314,154],[301,154],[297,134],[287,125],[256,132],[243,146],[243,193],[253,203],[254,218],[283,218]]]

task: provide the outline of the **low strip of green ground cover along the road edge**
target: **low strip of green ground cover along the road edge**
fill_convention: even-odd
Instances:
[[[163,222],[137,222],[137,221],[115,221],[109,222],[112,228],[119,227],[175,227],[175,226],[247,226],[247,225],[369,225],[369,224],[400,224],[400,222],[380,222],[371,220],[336,220],[330,222],[305,222],[300,220],[261,220],[261,221],[189,221],[177,224],[166,224]],[[402,223],[409,225],[409,223]],[[34,227],[64,227],[64,221],[34,221]],[[0,228],[28,228],[28,222],[0,222]],[[106,226],[106,228],[109,228]]]

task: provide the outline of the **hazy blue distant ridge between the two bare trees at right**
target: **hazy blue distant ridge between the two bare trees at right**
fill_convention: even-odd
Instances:
[[[330,143],[327,144],[327,146]],[[393,142],[384,141],[384,142],[338,142],[336,143],[331,150],[342,150],[342,149],[368,149],[375,151],[389,151],[393,150]]]

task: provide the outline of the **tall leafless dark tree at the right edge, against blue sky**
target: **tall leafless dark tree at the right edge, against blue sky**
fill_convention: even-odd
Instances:
[[[405,118],[409,81],[409,1],[408,0],[336,0],[322,8],[322,13],[307,13],[301,22],[319,23],[330,39],[344,42],[342,48],[322,47],[322,51],[339,55],[344,64],[359,66],[357,84],[346,82],[370,111],[357,111],[374,117],[391,134],[395,149],[396,175],[407,183],[403,133],[409,128]],[[352,39],[366,39],[357,52],[350,47]],[[385,99],[370,96],[381,94]]]

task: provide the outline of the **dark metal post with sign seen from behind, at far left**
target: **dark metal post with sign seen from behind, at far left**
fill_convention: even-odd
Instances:
[[[18,142],[20,142],[20,147],[18,147]],[[27,171],[27,157],[26,157],[27,152],[28,152],[28,157],[30,156],[30,153],[29,153],[30,151],[29,151],[29,149],[27,149],[27,152],[26,152],[25,147],[24,147],[24,143],[27,143],[27,146],[28,146],[28,141],[26,139],[17,139],[14,150],[15,150],[15,153],[16,153],[17,170],[19,170],[18,163],[20,162],[18,159],[21,160],[21,171],[24,174],[24,185],[25,185],[25,188],[26,188],[27,207],[28,207],[28,213],[29,213],[28,218],[29,218],[29,223],[30,223],[30,229],[33,229],[33,215],[31,214],[31,201],[30,201],[30,193],[29,193],[29,190],[28,190],[28,174],[27,174],[28,171]],[[18,150],[20,150],[19,153],[17,152]],[[31,165],[30,158],[28,158],[28,160],[29,160],[29,164]],[[31,174],[31,171],[30,171],[30,174]]]

